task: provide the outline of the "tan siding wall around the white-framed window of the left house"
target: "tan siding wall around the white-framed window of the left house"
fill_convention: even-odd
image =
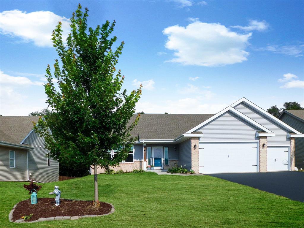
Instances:
[[[15,168],[9,168],[9,151],[15,151]],[[0,181],[27,181],[27,151],[0,147]]]

